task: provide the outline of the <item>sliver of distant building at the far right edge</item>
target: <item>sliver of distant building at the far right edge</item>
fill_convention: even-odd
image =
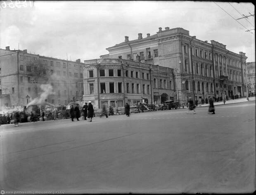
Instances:
[[[253,93],[255,95],[255,62],[247,62],[247,85],[249,94]]]

